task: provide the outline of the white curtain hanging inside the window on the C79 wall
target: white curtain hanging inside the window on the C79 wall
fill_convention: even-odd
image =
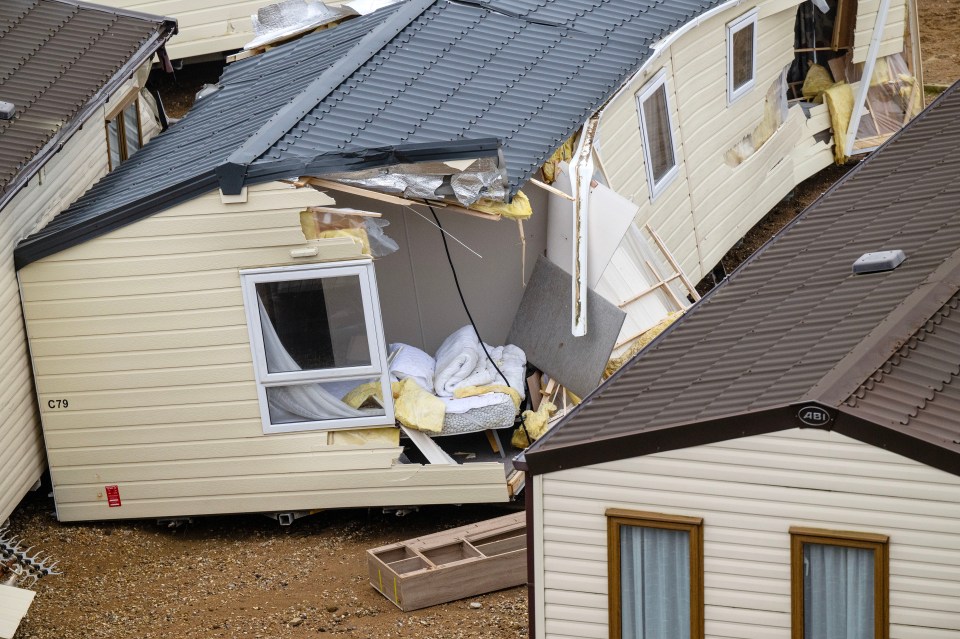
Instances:
[[[259,296],[257,296],[257,304],[260,307],[260,326],[263,332],[263,351],[267,358],[267,370],[302,370],[284,348]],[[270,405],[270,421],[274,424],[369,415],[344,404],[318,383],[268,387],[267,403]]]

